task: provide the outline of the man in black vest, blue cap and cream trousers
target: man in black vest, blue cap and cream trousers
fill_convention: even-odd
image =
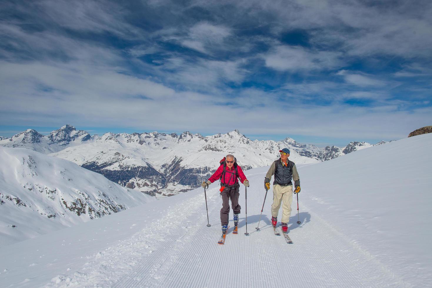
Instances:
[[[289,161],[289,149],[279,150],[280,158],[273,162],[264,180],[266,190],[270,189],[270,179],[273,181],[273,205],[271,206],[271,222],[273,227],[277,224],[277,215],[282,202],[282,231],[288,233],[289,216],[291,215],[292,181],[294,179],[295,191],[300,192],[300,178],[294,162]]]

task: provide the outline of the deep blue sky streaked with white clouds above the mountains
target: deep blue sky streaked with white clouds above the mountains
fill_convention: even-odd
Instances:
[[[432,124],[430,15],[430,1],[3,1],[0,136],[401,139]]]

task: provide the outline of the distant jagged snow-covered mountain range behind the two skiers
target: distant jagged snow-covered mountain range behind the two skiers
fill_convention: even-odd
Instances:
[[[382,144],[381,141],[377,144]],[[43,136],[26,130],[1,146],[22,147],[63,158],[104,175],[109,180],[154,196],[171,196],[192,188],[210,177],[219,161],[231,153],[244,170],[270,165],[278,151],[288,147],[290,160],[311,164],[330,160],[371,147],[366,142],[350,142],[346,147],[324,149],[301,144],[287,137],[282,141],[252,141],[238,130],[202,136],[199,133],[105,133],[90,136],[83,130],[65,125]]]

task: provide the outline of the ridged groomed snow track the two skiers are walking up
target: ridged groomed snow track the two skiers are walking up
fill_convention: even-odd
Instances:
[[[255,175],[261,180],[262,174]],[[213,188],[207,193],[211,227],[206,227],[202,193],[171,206],[130,239],[89,256],[79,272],[58,275],[44,287],[410,287],[310,212],[301,214],[298,226],[293,209],[294,244],[286,244],[270,225],[271,197],[256,231],[264,193],[255,190],[248,193],[250,234],[245,236],[245,193],[240,192],[239,231],[232,234],[230,211],[225,245],[217,244],[222,201]]]

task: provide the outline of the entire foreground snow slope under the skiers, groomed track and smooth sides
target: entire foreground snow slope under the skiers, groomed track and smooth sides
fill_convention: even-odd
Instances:
[[[268,167],[247,171],[239,234],[220,234],[218,185],[66,228],[2,251],[2,287],[427,287],[432,280],[432,134],[299,166],[299,226],[260,231]],[[405,153],[410,151],[410,153]],[[294,198],[295,199],[295,198]],[[281,213],[280,213],[281,214]],[[280,218],[280,217],[279,217]],[[232,219],[232,212],[230,213]],[[232,226],[232,220],[230,222]],[[230,229],[230,232],[232,228]]]

